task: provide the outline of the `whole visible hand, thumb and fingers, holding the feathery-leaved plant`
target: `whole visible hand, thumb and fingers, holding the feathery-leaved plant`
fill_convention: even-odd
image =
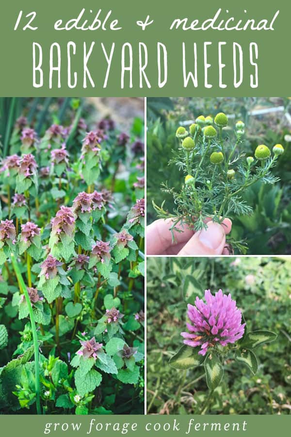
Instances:
[[[147,255],[228,255],[226,235],[231,231],[231,220],[221,224],[206,220],[208,228],[195,232],[186,226],[177,225],[182,232],[174,231],[175,242],[169,228],[172,219],[159,219],[146,228]]]

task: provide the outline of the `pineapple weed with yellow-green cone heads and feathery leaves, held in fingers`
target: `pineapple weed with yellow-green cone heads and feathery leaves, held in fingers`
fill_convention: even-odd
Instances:
[[[258,145],[255,156],[243,153],[244,128],[242,121],[235,125],[235,140],[230,141],[223,129],[228,118],[219,113],[214,120],[199,116],[189,127],[179,126],[176,132],[180,147],[169,164],[175,164],[184,173],[184,184],[179,192],[162,185],[164,192],[173,196],[174,213],[153,202],[160,218],[172,218],[170,231],[173,241],[177,225],[188,226],[194,231],[207,229],[206,219],[222,223],[233,215],[250,215],[252,208],[242,199],[243,192],[259,180],[275,184],[279,179],[272,175],[278,157],[284,152],[281,144],[273,147],[273,153],[264,144]],[[247,243],[227,237],[229,252],[246,253]]]

